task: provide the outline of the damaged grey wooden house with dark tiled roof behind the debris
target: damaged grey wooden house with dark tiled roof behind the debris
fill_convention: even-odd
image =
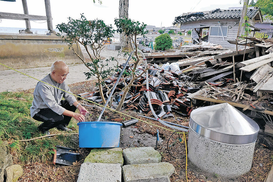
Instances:
[[[214,44],[221,44],[222,47],[235,47],[227,40],[234,40],[237,37],[241,14],[242,8],[226,10],[218,8],[212,11],[183,13],[175,17],[173,24],[180,24],[181,29],[192,29],[191,38],[193,42],[209,41]],[[252,32],[260,31],[254,27],[255,23],[262,23],[260,9],[249,7],[247,16],[249,18],[248,23],[251,25],[249,28]]]

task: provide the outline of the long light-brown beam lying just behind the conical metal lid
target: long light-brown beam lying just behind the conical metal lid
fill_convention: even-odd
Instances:
[[[208,101],[208,102],[215,102],[215,103],[219,103],[219,104],[229,103],[230,105],[232,105],[234,107],[240,107],[240,108],[246,108],[247,107],[247,105],[244,105],[244,104],[239,104],[239,103],[236,103],[236,102],[224,101],[224,100],[220,100],[220,99],[211,99],[211,98],[207,98],[207,97],[195,96],[195,97],[193,97],[193,99],[203,100],[203,101]],[[248,108],[248,110],[257,111],[257,112],[261,112],[261,113],[269,114],[269,115],[273,116],[273,111],[268,111],[268,110],[261,110],[260,111],[260,110],[254,109],[252,107]]]

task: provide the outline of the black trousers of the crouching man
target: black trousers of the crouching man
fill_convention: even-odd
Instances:
[[[74,105],[70,106],[70,104],[66,100],[61,100],[61,107],[72,112],[75,112],[77,109]],[[56,112],[52,111],[50,108],[41,109],[33,116],[33,119],[43,122],[38,128],[39,131],[46,131],[51,128],[55,128],[60,124],[67,126],[71,118],[71,116],[65,116],[63,114],[59,115]]]

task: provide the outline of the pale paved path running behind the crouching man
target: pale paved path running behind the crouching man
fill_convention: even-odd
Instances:
[[[86,56],[86,51],[82,51],[84,56]],[[117,56],[118,51],[111,51],[105,49],[101,52],[101,56],[105,58],[109,58],[109,56]],[[123,63],[124,61],[120,61]],[[113,63],[114,64],[114,63]],[[113,66],[110,64],[109,66]],[[0,65],[2,66],[2,65]],[[69,74],[65,82],[67,84],[82,82],[86,79],[83,72],[88,72],[89,69],[84,66],[84,64],[70,64],[69,67]],[[18,71],[30,75],[37,79],[44,78],[47,74],[50,73],[50,67],[39,67],[39,68],[20,68]],[[29,78],[21,73],[18,73],[13,70],[2,70],[0,71],[0,92],[7,91],[7,89],[12,90],[27,90],[30,88],[35,88],[37,84],[37,80],[33,78]],[[11,91],[11,90],[8,90]]]

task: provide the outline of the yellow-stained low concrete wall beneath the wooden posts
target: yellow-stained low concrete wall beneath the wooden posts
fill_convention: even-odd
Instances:
[[[83,57],[81,50],[80,55]],[[82,62],[60,37],[0,34],[0,63],[12,68],[33,68],[51,66],[57,60],[67,64]],[[0,66],[0,70],[5,69],[8,68]]]

